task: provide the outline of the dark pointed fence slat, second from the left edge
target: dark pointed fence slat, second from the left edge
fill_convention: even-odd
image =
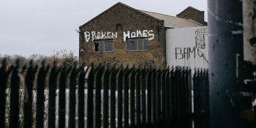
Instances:
[[[11,76],[11,93],[10,93],[10,128],[18,127],[19,120],[19,86],[20,86],[20,77],[19,77],[19,61],[16,61],[16,66],[13,69]]]

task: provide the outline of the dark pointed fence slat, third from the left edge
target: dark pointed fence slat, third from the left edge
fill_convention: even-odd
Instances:
[[[24,96],[24,120],[23,127],[32,127],[32,102],[33,102],[33,85],[37,67],[34,67],[33,61],[30,61],[29,69],[25,78],[25,96]]]

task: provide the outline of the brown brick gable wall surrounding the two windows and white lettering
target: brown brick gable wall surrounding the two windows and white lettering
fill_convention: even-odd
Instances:
[[[117,27],[116,24],[121,24]],[[117,29],[118,28],[118,29]],[[154,39],[148,41],[147,51],[128,52],[123,39],[124,31],[153,30]],[[141,14],[129,7],[117,4],[107,12],[94,18],[84,26],[80,26],[79,59],[87,65],[91,62],[111,61],[117,64],[153,64],[165,65],[165,28],[163,21]],[[94,43],[90,39],[85,42],[85,31],[113,31],[118,36],[113,39],[112,53],[94,53]]]

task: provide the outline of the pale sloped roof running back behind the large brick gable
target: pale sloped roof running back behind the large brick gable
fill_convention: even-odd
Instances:
[[[167,28],[185,28],[185,27],[194,27],[194,26],[203,26],[200,23],[195,22],[194,20],[188,20],[185,18],[177,18],[171,15],[164,15],[156,12],[148,12],[140,10],[141,12],[151,15],[154,18],[159,20],[165,20],[165,27]]]

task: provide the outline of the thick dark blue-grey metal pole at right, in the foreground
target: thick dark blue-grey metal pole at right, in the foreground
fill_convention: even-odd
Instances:
[[[208,0],[211,127],[246,127],[241,119],[243,15],[241,0]]]

